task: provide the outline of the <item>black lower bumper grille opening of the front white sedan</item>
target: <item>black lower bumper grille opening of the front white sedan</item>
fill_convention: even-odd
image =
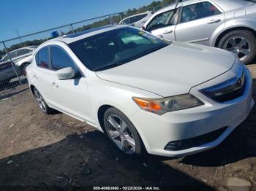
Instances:
[[[204,134],[203,136],[196,136],[191,139],[171,141],[165,146],[165,150],[178,151],[178,150],[189,149],[192,147],[199,147],[203,144],[211,143],[212,141],[217,140],[219,136],[221,136],[222,133],[225,132],[226,129],[227,127],[220,128],[218,130],[212,131],[211,133]]]

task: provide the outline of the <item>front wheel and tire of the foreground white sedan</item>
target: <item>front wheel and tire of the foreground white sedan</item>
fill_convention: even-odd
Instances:
[[[127,155],[141,155],[143,142],[132,122],[121,111],[111,107],[104,114],[105,132],[118,149]]]

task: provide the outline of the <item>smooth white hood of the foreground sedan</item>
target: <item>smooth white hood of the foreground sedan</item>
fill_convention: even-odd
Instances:
[[[235,60],[232,53],[214,47],[173,42],[135,61],[96,74],[100,79],[167,97],[189,93],[191,87],[230,70]]]

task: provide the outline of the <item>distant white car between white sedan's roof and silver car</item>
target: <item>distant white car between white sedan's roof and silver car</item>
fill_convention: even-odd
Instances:
[[[128,25],[128,26],[134,26],[136,28],[141,28],[144,23],[153,15],[153,12],[143,12],[140,14],[132,15],[129,17],[124,18],[119,22],[121,25]]]

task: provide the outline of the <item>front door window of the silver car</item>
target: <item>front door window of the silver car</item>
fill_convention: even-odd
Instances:
[[[175,15],[174,15],[175,13],[176,13],[176,10],[170,10],[167,12],[160,13],[159,15],[155,16],[151,20],[146,30],[152,31],[157,28],[173,25],[175,23]]]

